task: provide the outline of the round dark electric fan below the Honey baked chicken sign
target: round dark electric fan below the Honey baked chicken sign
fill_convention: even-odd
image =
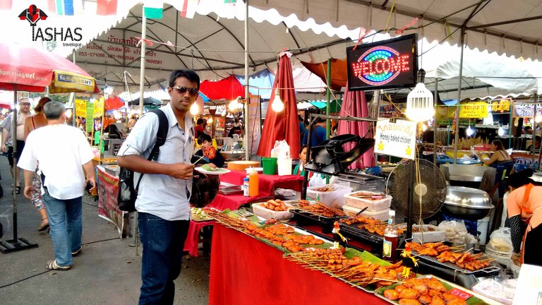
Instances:
[[[386,182],[386,191],[392,199],[392,208],[396,213],[408,218],[409,189],[414,189],[411,215],[414,222],[435,215],[442,208],[446,197],[446,179],[440,169],[432,162],[418,160],[420,181],[416,182],[416,163],[400,162]],[[420,207],[420,195],[422,205]]]

